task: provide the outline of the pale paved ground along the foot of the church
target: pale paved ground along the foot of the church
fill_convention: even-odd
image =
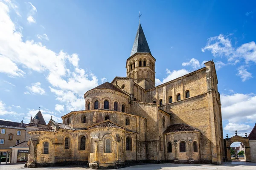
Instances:
[[[0,170],[86,170],[86,167],[41,167],[24,168],[24,164],[0,165]],[[224,162],[222,165],[211,164],[143,164],[121,168],[119,170],[256,170],[256,163]]]

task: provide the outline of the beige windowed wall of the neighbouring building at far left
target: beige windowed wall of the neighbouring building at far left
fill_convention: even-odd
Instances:
[[[1,134],[0,133],[0,139],[4,139],[4,144],[0,144],[0,148],[9,148],[16,144],[17,140],[20,140],[20,142],[25,141],[25,135],[26,135],[26,129],[25,128],[19,128],[19,127],[0,127],[1,129],[5,129],[6,133]],[[20,135],[17,135],[17,130],[20,130]],[[9,134],[13,134],[12,140],[9,140]]]

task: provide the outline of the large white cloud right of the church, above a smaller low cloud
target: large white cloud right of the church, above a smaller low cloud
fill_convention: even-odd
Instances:
[[[255,94],[221,94],[222,119],[229,123],[254,122],[256,118]]]

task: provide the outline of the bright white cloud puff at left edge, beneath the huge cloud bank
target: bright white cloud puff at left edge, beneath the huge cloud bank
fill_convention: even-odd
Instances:
[[[1,28],[0,28],[1,29]],[[0,33],[1,34],[1,33]],[[0,55],[0,73],[6,73],[9,77],[24,77],[24,71],[20,70],[11,59]]]

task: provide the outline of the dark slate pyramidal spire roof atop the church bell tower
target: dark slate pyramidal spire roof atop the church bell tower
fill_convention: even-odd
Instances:
[[[131,56],[136,53],[150,53],[150,49],[148,47],[148,42],[146,40],[145,34],[143,32],[143,29],[139,23],[139,28],[134,40],[134,45],[131,49]]]

